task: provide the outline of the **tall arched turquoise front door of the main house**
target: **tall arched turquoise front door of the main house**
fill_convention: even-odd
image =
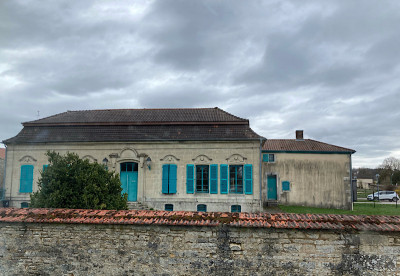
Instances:
[[[125,162],[120,165],[122,194],[128,194],[128,201],[137,201],[138,163]]]

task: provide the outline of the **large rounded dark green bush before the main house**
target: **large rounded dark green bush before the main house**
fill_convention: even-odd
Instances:
[[[127,195],[121,195],[118,175],[103,165],[80,159],[77,154],[65,156],[47,152],[49,165],[43,169],[39,190],[31,195],[31,206],[37,208],[127,209]]]

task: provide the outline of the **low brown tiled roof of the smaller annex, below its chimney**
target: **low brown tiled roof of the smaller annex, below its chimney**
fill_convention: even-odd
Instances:
[[[268,139],[264,143],[263,150],[276,152],[356,152],[352,149],[330,145],[311,139]]]

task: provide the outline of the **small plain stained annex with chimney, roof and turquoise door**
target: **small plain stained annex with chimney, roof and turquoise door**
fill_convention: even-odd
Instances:
[[[304,139],[268,139],[262,148],[264,205],[352,209],[355,150]]]

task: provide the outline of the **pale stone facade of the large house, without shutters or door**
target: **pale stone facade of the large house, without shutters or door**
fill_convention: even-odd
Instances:
[[[10,207],[20,207],[29,202],[29,194],[19,192],[21,165],[34,166],[33,191],[43,165],[47,164],[47,150],[60,154],[75,152],[81,158],[101,163],[108,160],[109,170],[120,172],[123,162],[138,163],[137,200],[149,208],[164,210],[165,204],[173,204],[174,210],[196,211],[198,204],[206,204],[207,211],[228,212],[231,205],[241,205],[243,212],[260,210],[260,141],[180,141],[147,143],[64,143],[25,144],[7,147],[6,198]],[[151,168],[145,164],[146,156],[151,157]],[[163,194],[162,165],[177,165],[177,192]],[[186,192],[186,165],[253,165],[252,194],[221,194],[218,179],[218,194]],[[220,172],[218,171],[218,176]],[[218,177],[219,178],[219,177]]]

